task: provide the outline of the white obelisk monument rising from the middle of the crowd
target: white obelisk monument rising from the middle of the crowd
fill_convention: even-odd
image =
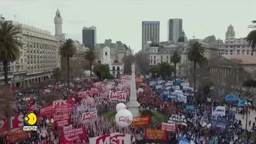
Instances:
[[[133,117],[139,116],[139,106],[140,103],[137,101],[137,91],[136,91],[136,79],[135,79],[135,65],[132,63],[132,76],[130,82],[130,102],[127,103],[128,109],[131,111]]]

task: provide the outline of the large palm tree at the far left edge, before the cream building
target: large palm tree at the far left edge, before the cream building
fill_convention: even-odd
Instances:
[[[22,43],[18,40],[20,29],[7,21],[0,22],[0,61],[3,62],[4,83],[8,86],[7,66],[20,58]]]

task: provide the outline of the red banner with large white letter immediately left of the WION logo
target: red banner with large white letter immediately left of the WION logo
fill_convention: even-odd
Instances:
[[[19,131],[23,129],[23,114],[11,117],[11,130]]]

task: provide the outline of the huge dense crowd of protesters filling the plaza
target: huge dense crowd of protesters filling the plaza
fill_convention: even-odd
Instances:
[[[186,114],[191,118],[191,123],[188,123],[187,126],[178,125],[175,132],[167,132],[167,139],[177,140],[178,137],[186,138],[191,141],[191,143],[253,143],[253,133],[256,131],[255,121],[249,121],[249,129],[246,132],[244,137],[241,137],[245,130],[243,129],[242,122],[244,119],[237,119],[234,113],[239,115],[246,115],[245,107],[236,107],[229,102],[221,102],[219,98],[223,95],[219,95],[217,92],[212,91],[209,95],[204,95],[202,93],[188,90],[186,91],[187,103],[180,102],[175,99],[163,100],[164,90],[156,89],[155,86],[150,86],[149,81],[154,81],[154,79],[146,79],[144,83],[137,84],[137,90],[142,89],[142,91],[137,92],[137,100],[140,103],[141,110],[151,110],[156,113],[162,114],[164,116],[169,116],[171,114]],[[95,87],[95,83],[101,84],[102,91],[99,93],[94,93],[91,97],[94,99],[93,102],[83,103],[81,98],[78,98],[79,91],[90,90],[92,87]],[[110,87],[108,87],[110,86]],[[164,83],[163,83],[164,86]],[[47,89],[51,90],[51,93],[59,94],[63,99],[74,98],[73,103],[74,109],[70,113],[70,124],[73,127],[82,127],[86,128],[86,139],[78,139],[73,141],[74,143],[89,143],[89,138],[97,137],[100,135],[105,135],[113,132],[119,132],[124,134],[132,134],[132,142],[136,140],[142,140],[145,137],[145,129],[143,128],[134,128],[134,127],[119,127],[115,122],[108,117],[103,116],[103,114],[114,111],[118,101],[109,101],[108,100],[108,90],[122,90],[127,92],[127,101],[130,97],[130,84],[120,81],[100,81],[99,79],[84,79],[79,81],[75,85],[71,86],[71,90],[67,92],[66,87],[48,87]],[[173,92],[173,89],[168,90],[170,93]],[[22,93],[22,92],[21,92]],[[17,93],[15,95],[18,95]],[[42,102],[39,101],[43,94],[41,90],[23,92],[22,96],[17,96],[17,100],[13,104],[13,115],[25,114],[28,112],[28,106],[31,103],[38,102],[38,105],[42,106]],[[199,100],[195,99],[199,98]],[[206,98],[211,98],[211,101],[207,101]],[[27,100],[29,99],[29,101]],[[222,97],[223,99],[223,97]],[[196,102],[195,102],[196,101]],[[194,105],[194,110],[186,110],[186,105]],[[211,110],[212,107],[216,106],[226,106],[227,113],[225,116],[212,116]],[[82,108],[82,110],[77,110],[75,107]],[[236,111],[232,111],[233,107],[236,107]],[[39,117],[38,107],[33,112]],[[81,123],[79,118],[83,112],[90,112],[97,110],[97,120],[88,123]],[[250,111],[253,109],[249,108]],[[50,131],[47,129],[46,119],[51,119],[51,116],[42,117],[42,121],[38,121],[38,132],[31,132],[29,138],[22,141],[15,141],[13,143],[31,143],[31,144],[47,144],[47,143],[60,143],[60,131],[57,126],[53,127]],[[228,123],[228,131],[214,131],[210,129],[205,129],[203,123],[210,123],[211,119],[218,119],[220,121],[225,121]],[[39,118],[40,119],[40,118]],[[161,129],[162,123],[156,122],[153,123],[151,127],[154,129]],[[254,135],[254,137],[256,137]],[[3,138],[6,143],[8,139]]]

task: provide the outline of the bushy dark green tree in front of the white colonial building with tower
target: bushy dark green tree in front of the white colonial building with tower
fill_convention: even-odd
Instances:
[[[109,66],[108,65],[102,65],[101,63],[98,63],[98,65],[93,67],[93,73],[102,79],[114,79],[115,77],[110,74],[109,72]]]

